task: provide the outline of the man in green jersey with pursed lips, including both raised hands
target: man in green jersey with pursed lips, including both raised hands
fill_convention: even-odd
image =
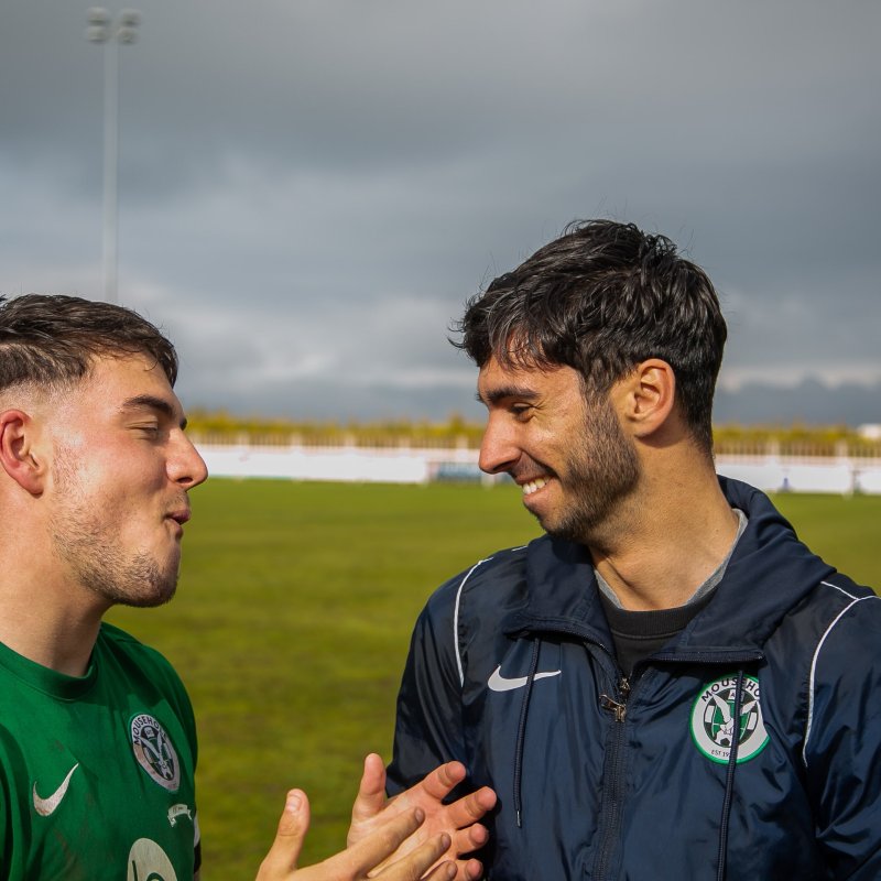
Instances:
[[[186,690],[162,655],[101,621],[175,591],[187,493],[207,477],[176,373],[172,345],[129,309],[0,298],[2,879],[198,877]],[[293,790],[258,878],[479,877],[459,856],[486,841],[475,822],[494,795],[445,806],[464,773],[443,765],[387,803],[369,757],[349,847],[300,870],[308,803]]]

